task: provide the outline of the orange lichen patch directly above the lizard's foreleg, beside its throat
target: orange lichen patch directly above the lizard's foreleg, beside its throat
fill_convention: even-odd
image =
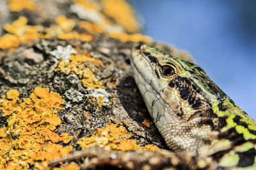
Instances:
[[[90,138],[80,138],[77,141],[83,149],[90,146],[100,146],[106,150],[157,150],[155,145],[138,146],[136,141],[131,138],[126,129],[121,125],[116,127],[115,124],[109,124],[107,127],[102,127],[97,130]],[[158,148],[158,150],[160,150]]]

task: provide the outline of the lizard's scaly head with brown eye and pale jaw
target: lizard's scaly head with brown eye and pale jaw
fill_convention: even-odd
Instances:
[[[132,50],[131,66],[148,111],[173,151],[211,144],[218,124],[211,104],[225,94],[203,69],[147,45]]]

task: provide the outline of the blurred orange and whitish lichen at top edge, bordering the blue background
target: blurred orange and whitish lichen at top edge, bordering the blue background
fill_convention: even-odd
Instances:
[[[88,0],[74,0],[74,3],[84,8],[88,20],[93,22],[92,25],[99,25],[100,29],[97,30],[100,32],[137,32],[140,29],[131,6],[124,0],[102,0],[101,4]]]

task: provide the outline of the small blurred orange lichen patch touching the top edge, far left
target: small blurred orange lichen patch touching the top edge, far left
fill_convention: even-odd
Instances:
[[[28,10],[35,10],[36,8],[36,5],[29,0],[8,0],[8,1],[9,1],[8,8],[10,11],[19,12],[25,8]]]

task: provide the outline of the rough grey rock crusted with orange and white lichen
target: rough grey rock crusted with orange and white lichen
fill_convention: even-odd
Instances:
[[[0,151],[0,169],[44,169],[71,150],[93,145],[118,150],[118,140],[134,149],[167,148],[132,78],[129,56],[139,43],[177,51],[139,34],[127,1],[9,5],[0,13],[6,16],[0,20],[5,30],[0,32],[0,148],[6,148]],[[19,97],[7,99],[13,89]],[[113,131],[115,142],[104,137]]]

